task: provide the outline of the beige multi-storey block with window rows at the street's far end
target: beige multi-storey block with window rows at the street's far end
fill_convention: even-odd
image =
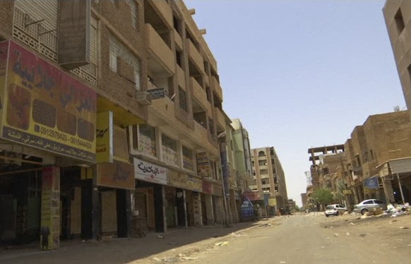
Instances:
[[[265,206],[268,215],[276,210],[288,207],[287,184],[280,159],[273,147],[251,149],[251,164],[253,165],[253,181],[249,188],[253,191],[251,201]],[[268,202],[268,204],[267,204]]]

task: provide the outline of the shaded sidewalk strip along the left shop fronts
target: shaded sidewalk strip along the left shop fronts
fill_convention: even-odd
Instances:
[[[231,227],[170,228],[165,233],[149,232],[141,238],[109,238],[102,241],[80,239],[61,241],[60,249],[41,251],[38,242],[0,249],[0,263],[129,263],[169,250],[190,250],[219,241],[233,232],[271,223],[276,218],[239,222]],[[194,244],[201,242],[201,244]],[[184,247],[184,249],[182,249]]]

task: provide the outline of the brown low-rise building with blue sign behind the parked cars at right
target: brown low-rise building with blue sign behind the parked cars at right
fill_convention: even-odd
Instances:
[[[345,146],[355,202],[411,199],[411,123],[407,111],[370,115]]]

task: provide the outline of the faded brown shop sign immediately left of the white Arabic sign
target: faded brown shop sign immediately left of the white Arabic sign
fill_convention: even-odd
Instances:
[[[120,161],[97,164],[97,185],[121,189],[136,189],[134,166]]]

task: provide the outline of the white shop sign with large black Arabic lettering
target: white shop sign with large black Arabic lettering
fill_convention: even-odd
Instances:
[[[134,177],[145,182],[167,185],[167,169],[134,158]]]

